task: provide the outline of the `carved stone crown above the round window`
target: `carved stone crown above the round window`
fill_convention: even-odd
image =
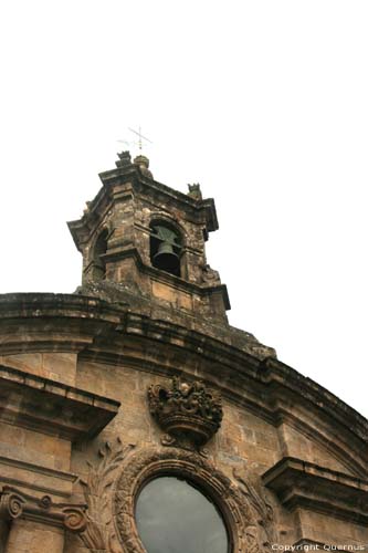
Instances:
[[[174,377],[170,387],[153,385],[148,388],[148,401],[150,414],[168,435],[162,439],[164,445],[196,449],[220,428],[220,393],[208,389],[201,382],[187,383]]]

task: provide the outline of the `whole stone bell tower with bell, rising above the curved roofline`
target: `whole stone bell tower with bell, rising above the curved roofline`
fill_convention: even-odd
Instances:
[[[218,229],[213,199],[199,185],[185,195],[157,182],[145,156],[118,157],[83,217],[69,222],[83,254],[80,292],[227,322],[227,286],[204,251]]]

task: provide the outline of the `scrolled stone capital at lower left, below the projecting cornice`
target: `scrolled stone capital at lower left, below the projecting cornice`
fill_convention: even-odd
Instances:
[[[54,503],[50,495],[35,498],[10,486],[0,490],[0,520],[4,521],[24,518],[78,533],[86,528],[85,510],[85,504]]]

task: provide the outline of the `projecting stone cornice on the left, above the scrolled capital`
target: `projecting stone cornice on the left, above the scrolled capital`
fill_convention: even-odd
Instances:
[[[77,441],[99,434],[118,407],[113,399],[0,365],[4,422]]]

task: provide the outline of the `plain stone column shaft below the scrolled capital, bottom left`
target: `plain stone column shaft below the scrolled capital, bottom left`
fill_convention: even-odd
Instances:
[[[12,522],[6,553],[63,553],[64,530],[17,519]]]

